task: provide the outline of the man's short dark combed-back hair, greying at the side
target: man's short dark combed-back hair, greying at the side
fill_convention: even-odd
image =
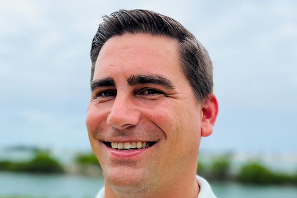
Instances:
[[[99,52],[111,37],[125,33],[167,36],[178,41],[178,53],[183,72],[198,100],[212,93],[212,62],[207,50],[176,20],[148,10],[119,10],[103,17],[91,47],[91,81]]]

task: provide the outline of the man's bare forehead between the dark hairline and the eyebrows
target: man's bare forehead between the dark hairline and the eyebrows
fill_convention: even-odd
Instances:
[[[111,37],[98,55],[94,74],[116,67],[145,72],[148,71],[148,67],[162,69],[165,64],[174,66],[179,64],[176,44],[174,39],[150,34]]]

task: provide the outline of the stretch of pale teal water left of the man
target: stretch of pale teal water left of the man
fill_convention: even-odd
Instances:
[[[32,175],[0,172],[0,197],[94,198],[103,185],[102,178],[80,175]]]

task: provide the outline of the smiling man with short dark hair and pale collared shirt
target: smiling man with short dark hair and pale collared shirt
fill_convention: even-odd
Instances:
[[[206,49],[170,17],[120,10],[99,25],[91,60],[86,125],[105,181],[97,198],[215,198],[196,176],[218,113]]]

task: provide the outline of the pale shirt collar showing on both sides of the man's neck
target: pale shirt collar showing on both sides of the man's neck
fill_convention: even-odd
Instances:
[[[196,181],[200,186],[200,192],[197,198],[217,198],[211,190],[209,183],[202,177],[196,175]],[[104,198],[104,187],[99,191],[96,198]]]

